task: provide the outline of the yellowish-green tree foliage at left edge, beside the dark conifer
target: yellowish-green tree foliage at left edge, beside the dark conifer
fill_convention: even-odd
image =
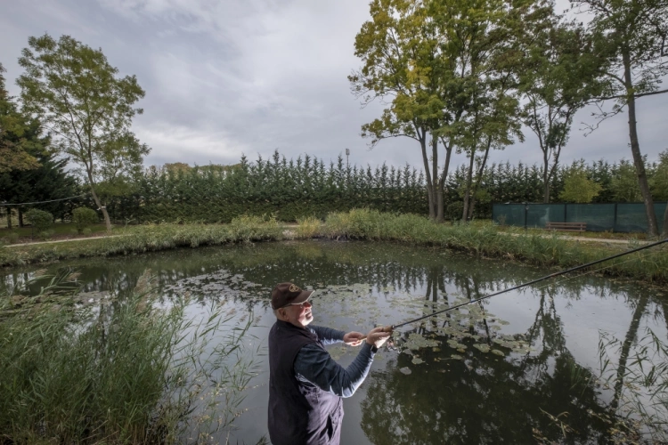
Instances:
[[[35,141],[26,137],[29,119],[20,114],[4,87],[4,68],[0,63],[0,174],[10,170],[29,170],[39,163],[28,149]]]

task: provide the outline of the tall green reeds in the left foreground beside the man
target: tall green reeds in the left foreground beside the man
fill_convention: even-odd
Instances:
[[[252,317],[230,328],[216,305],[196,323],[187,301],[156,309],[139,289],[94,305],[62,292],[0,295],[0,442],[200,442],[232,425]]]

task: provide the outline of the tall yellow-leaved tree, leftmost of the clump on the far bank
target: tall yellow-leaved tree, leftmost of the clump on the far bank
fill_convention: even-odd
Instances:
[[[425,3],[373,0],[371,20],[355,36],[354,53],[362,59],[363,68],[348,80],[363,105],[377,98],[391,99],[381,117],[363,125],[362,135],[371,138],[371,147],[383,139],[400,136],[420,143],[429,216],[443,221],[447,171],[442,171],[439,178],[438,138],[432,132],[444,118],[439,90],[449,77],[443,70],[438,36],[428,20]]]

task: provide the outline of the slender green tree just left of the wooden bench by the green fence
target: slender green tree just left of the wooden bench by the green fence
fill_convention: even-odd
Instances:
[[[543,202],[550,202],[550,182],[557,171],[561,150],[568,142],[575,113],[600,94],[598,59],[591,37],[582,26],[558,23],[547,17],[525,45],[525,67],[520,91],[525,96],[522,118],[538,138],[542,150]]]

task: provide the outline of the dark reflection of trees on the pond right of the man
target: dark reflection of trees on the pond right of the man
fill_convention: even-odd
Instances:
[[[433,298],[436,287],[444,288],[442,269],[433,269],[428,277],[427,296]],[[470,299],[482,296],[475,275],[462,284]],[[486,322],[483,318],[471,328],[488,336]],[[385,372],[368,379],[364,433],[375,444],[604,440],[606,425],[597,416],[607,409],[599,404],[591,372],[566,350],[560,326],[544,289],[527,333],[537,353],[499,357],[468,347],[464,360],[451,360],[449,351],[420,350],[427,365],[412,367],[409,376],[399,369],[411,364],[411,356],[399,354]],[[436,338],[446,344],[450,336]]]

